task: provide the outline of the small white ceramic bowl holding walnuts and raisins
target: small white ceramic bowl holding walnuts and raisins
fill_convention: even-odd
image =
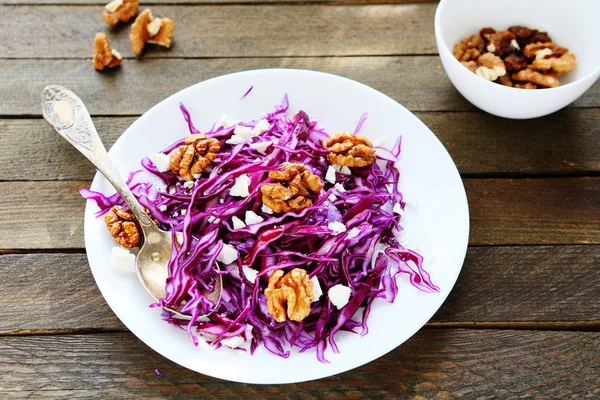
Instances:
[[[536,118],[572,103],[600,76],[599,17],[598,0],[441,0],[435,39],[448,77],[467,100],[500,117]],[[452,49],[461,39],[487,26],[504,30],[513,25],[546,30],[575,54],[577,67],[559,78],[561,86],[524,90],[498,85],[454,58]]]

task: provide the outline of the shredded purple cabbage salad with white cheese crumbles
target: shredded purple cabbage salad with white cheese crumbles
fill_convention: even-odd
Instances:
[[[332,165],[330,150],[323,146],[329,135],[320,122],[303,111],[288,116],[288,107],[286,95],[258,120],[239,122],[224,115],[203,132],[219,142],[220,150],[193,180],[149,156],[142,160],[144,170],[164,185],[144,181],[143,170],[131,172],[127,184],[157,225],[173,232],[166,297],[151,306],[179,309],[192,319],[163,310],[165,321],[187,330],[196,345],[201,338],[214,348],[225,345],[254,353],[262,344],[284,358],[293,347],[300,352],[316,348],[318,360],[327,363],[328,346],[339,352],[336,333],[367,334],[373,301],[394,302],[398,275],[407,274],[424,292],[439,288],[423,269],[423,258],[398,239],[405,207],[396,168],[400,138],[392,149],[373,148],[376,162],[371,165]],[[184,105],[180,108],[189,135],[199,134]],[[364,114],[354,133],[366,118]],[[186,137],[182,132],[180,140],[162,150],[162,157],[172,156]],[[263,202],[262,187],[272,184],[272,172],[282,171],[287,163],[303,164],[322,184],[305,193],[308,206],[276,212]],[[81,194],[98,205],[96,216],[115,205],[127,208],[118,194],[88,189]],[[284,299],[279,304],[283,317],[275,318],[270,311],[276,304],[265,294],[273,289],[270,276],[297,269],[305,272],[304,283],[312,283],[305,288],[312,296],[287,297],[287,316],[292,303],[298,306],[301,300],[305,315],[301,320],[287,318]],[[204,296],[212,290],[215,274],[222,277],[216,305]]]

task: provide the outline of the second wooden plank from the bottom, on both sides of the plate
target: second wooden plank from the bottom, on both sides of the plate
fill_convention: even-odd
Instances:
[[[470,247],[431,322],[598,322],[598,265],[600,246]],[[0,255],[0,276],[0,335],[125,329],[96,288],[84,254]]]

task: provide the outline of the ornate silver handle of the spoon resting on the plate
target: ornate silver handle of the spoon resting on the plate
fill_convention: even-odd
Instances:
[[[42,91],[42,115],[114,186],[139,221],[145,236],[158,230],[148,214],[142,210],[140,203],[108,157],[92,122],[92,117],[75,93],[59,85],[46,86]]]

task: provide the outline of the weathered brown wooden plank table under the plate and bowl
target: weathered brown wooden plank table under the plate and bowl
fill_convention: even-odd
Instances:
[[[140,60],[104,2],[0,0],[0,398],[600,396],[600,84],[545,118],[485,114],[444,74],[426,2],[148,0],[175,45]],[[100,31],[121,68],[92,68]],[[346,76],[415,112],[461,172],[472,230],[456,287],[408,342],[338,376],[258,386],[167,361],[109,310],[77,192],[95,171],[46,125],[39,94],[74,90],[110,146],[188,85],[271,67]]]

